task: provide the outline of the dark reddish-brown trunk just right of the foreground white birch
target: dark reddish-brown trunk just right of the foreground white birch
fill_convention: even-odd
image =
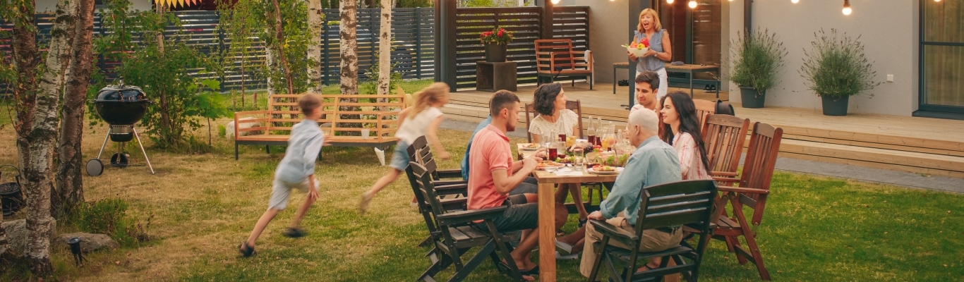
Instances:
[[[67,71],[67,89],[64,90],[64,108],[61,112],[60,141],[57,142],[57,186],[60,190],[63,211],[70,214],[77,204],[84,202],[84,181],[81,176],[83,159],[81,141],[84,137],[84,102],[91,84],[94,39],[94,0],[76,0],[76,23],[73,27],[73,56]]]

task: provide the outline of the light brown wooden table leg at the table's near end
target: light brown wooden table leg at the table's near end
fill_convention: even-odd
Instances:
[[[555,185],[539,184],[539,280],[555,281]]]

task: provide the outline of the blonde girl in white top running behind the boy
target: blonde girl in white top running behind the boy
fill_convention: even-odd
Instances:
[[[440,108],[448,104],[448,85],[437,82],[416,92],[415,95],[417,96],[415,106],[398,114],[398,131],[395,132],[398,144],[395,145],[395,152],[391,155],[391,171],[378,179],[371,190],[362,193],[362,201],[359,202],[359,213],[362,215],[368,210],[368,202],[371,198],[388,184],[395,182],[398,175],[409,167],[408,148],[418,137],[425,136],[432,145],[432,149],[438,152],[436,156],[440,159],[448,160],[451,157],[442,147],[442,142],[439,142],[436,134],[439,124],[442,124]]]

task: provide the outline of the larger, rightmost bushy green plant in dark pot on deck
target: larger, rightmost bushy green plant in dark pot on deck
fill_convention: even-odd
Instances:
[[[803,50],[800,75],[823,100],[823,115],[846,115],[850,96],[880,85],[873,81],[877,72],[864,56],[860,37],[839,35],[836,29],[831,29],[830,35],[820,29],[814,36],[817,39],[811,42],[813,48]]]

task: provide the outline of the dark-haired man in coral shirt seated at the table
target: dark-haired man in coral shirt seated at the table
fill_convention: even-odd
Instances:
[[[533,280],[531,275],[538,274],[530,259],[532,249],[539,243],[536,230],[539,226],[538,197],[534,193],[508,195],[541,161],[536,157],[513,161],[512,148],[505,133],[516,130],[519,104],[519,97],[508,90],[495,92],[489,101],[492,123],[475,135],[469,151],[469,166],[472,167],[469,170],[469,210],[508,206],[502,216],[493,218],[493,222],[499,232],[525,230],[522,242],[511,255],[524,278]],[[556,206],[555,229],[562,227],[568,216],[564,207]],[[477,227],[487,230],[483,226]]]

